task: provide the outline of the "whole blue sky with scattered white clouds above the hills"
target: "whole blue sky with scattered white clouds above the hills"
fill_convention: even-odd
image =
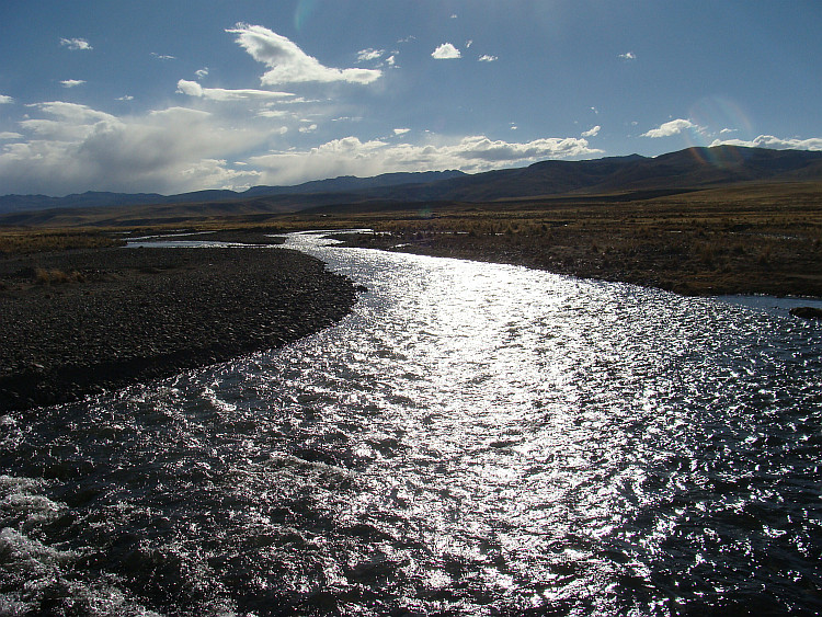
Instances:
[[[822,150],[819,0],[2,0],[0,195]]]

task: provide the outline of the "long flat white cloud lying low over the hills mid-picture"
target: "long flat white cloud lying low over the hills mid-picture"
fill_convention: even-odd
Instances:
[[[262,170],[263,184],[293,184],[338,175],[377,175],[397,171],[460,169],[489,171],[543,159],[564,159],[601,153],[585,139],[546,138],[525,144],[465,137],[452,142],[387,144],[345,137],[310,150],[286,150],[249,161]]]

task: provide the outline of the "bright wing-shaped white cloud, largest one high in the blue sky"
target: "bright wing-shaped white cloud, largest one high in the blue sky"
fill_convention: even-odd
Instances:
[[[237,43],[252,58],[271,69],[261,78],[263,85],[335,81],[366,84],[376,81],[383,75],[377,69],[326,67],[285,36],[260,25],[237,24],[235,28],[226,32],[237,34]]]

